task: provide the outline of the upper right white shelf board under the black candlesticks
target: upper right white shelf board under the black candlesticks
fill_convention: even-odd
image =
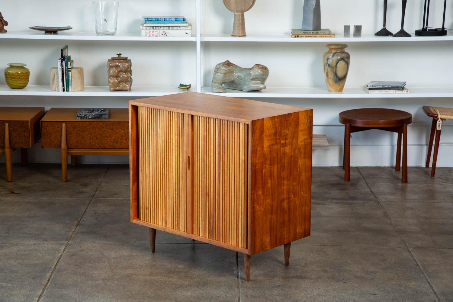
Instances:
[[[201,41],[217,42],[416,42],[416,41],[453,41],[453,34],[448,33],[440,37],[420,37],[412,34],[412,37],[394,38],[379,37],[372,34],[363,34],[361,37],[343,37],[337,34],[335,38],[291,38],[290,34],[247,34],[246,37],[232,37],[231,34],[202,34]]]

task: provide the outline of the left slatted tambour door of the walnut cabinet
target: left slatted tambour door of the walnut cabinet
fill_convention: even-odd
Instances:
[[[190,115],[138,107],[140,220],[187,231]]]

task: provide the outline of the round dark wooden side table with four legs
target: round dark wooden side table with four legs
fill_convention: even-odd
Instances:
[[[350,179],[351,133],[370,129],[398,133],[395,170],[400,171],[402,140],[403,169],[401,182],[407,182],[407,125],[412,123],[412,115],[409,112],[385,108],[352,109],[341,112],[338,120],[344,124],[343,169],[346,182],[349,182]]]

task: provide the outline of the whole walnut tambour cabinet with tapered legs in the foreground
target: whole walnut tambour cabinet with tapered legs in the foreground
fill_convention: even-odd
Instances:
[[[130,218],[251,255],[310,235],[313,110],[195,92],[129,102]]]

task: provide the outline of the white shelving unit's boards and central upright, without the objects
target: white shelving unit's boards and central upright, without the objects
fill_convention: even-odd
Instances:
[[[144,41],[147,43],[164,43],[172,41],[195,42],[196,47],[196,73],[197,83],[192,91],[213,94],[211,87],[203,87],[203,44],[220,42],[247,42],[247,43],[423,43],[424,41],[453,41],[453,34],[443,37],[418,37],[414,34],[409,38],[377,37],[364,34],[362,37],[343,37],[337,34],[335,38],[291,38],[289,34],[248,34],[246,37],[232,37],[229,34],[203,34],[202,33],[202,0],[195,1],[196,9],[196,34],[192,37],[182,38],[147,38],[140,33],[118,33],[113,36],[98,36],[95,33],[77,33],[69,31],[60,32],[58,35],[47,35],[32,29],[25,31],[8,31],[0,34],[0,43],[4,39],[30,39],[30,40],[77,40],[77,41]],[[51,91],[50,86],[27,86],[22,90],[10,89],[0,85],[0,95],[11,96],[131,96],[147,97],[162,96],[182,92],[177,87],[138,87],[133,86],[132,91],[109,91],[104,86],[85,86],[84,91],[58,92]],[[408,94],[367,94],[359,88],[345,89],[341,93],[328,92],[325,88],[297,88],[297,87],[268,87],[264,91],[235,91],[228,90],[223,96],[251,97],[251,98],[440,98],[453,97],[452,87],[410,87]]]

